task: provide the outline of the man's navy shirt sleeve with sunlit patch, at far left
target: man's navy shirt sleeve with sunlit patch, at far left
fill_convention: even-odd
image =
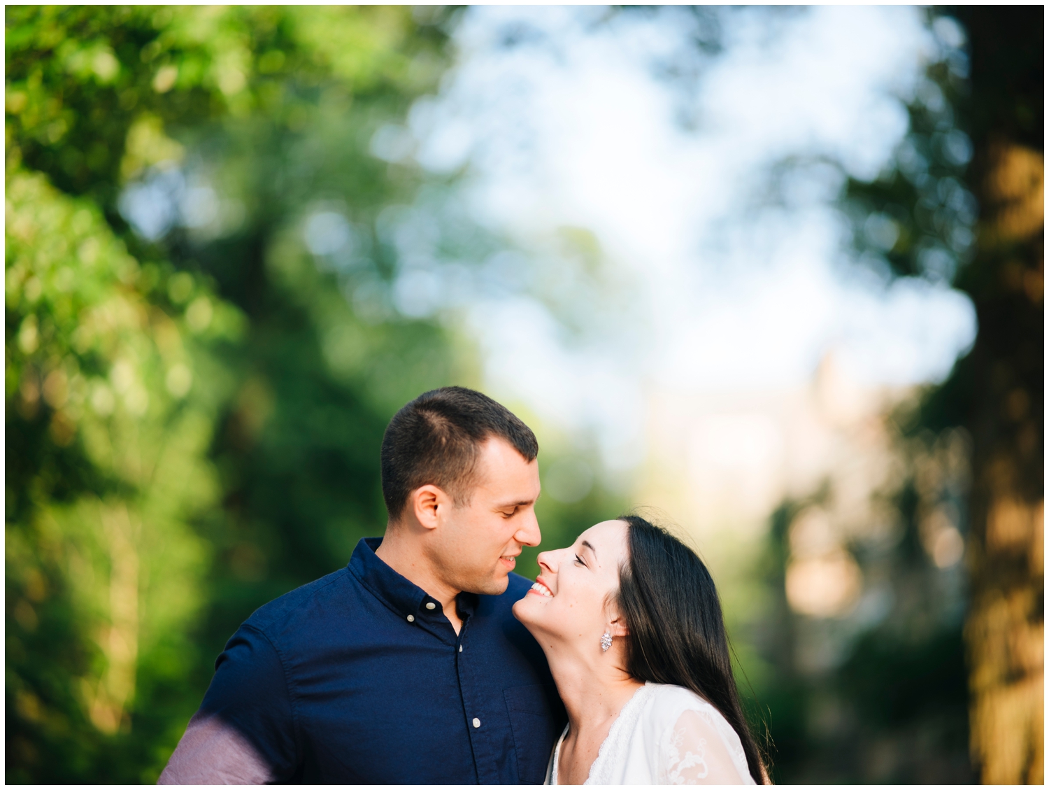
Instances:
[[[288,782],[298,766],[294,711],[280,656],[241,625],[215,662],[215,676],[160,774],[160,785]]]

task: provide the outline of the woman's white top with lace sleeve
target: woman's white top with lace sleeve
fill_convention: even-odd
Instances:
[[[561,743],[547,784],[557,784]],[[587,785],[753,785],[740,736],[709,702],[681,686],[645,683],[619,711]]]

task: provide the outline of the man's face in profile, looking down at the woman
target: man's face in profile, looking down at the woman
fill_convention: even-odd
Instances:
[[[539,465],[502,439],[489,439],[478,450],[476,486],[468,504],[445,511],[434,559],[450,586],[499,595],[521,547],[539,545]]]

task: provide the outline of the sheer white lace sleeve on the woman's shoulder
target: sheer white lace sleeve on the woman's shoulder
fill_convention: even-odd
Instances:
[[[733,760],[718,725],[711,711],[704,709],[686,710],[678,718],[662,744],[661,768],[665,775],[661,778],[665,784],[752,784],[742,747]],[[728,723],[723,726],[727,727]],[[738,743],[737,739],[731,741],[735,741],[733,746]]]

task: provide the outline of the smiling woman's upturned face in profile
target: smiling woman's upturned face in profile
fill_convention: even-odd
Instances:
[[[607,601],[619,590],[619,569],[627,559],[627,529],[623,521],[602,521],[566,549],[540,553],[539,577],[514,604],[514,616],[540,641],[593,642],[600,650],[616,614]]]

